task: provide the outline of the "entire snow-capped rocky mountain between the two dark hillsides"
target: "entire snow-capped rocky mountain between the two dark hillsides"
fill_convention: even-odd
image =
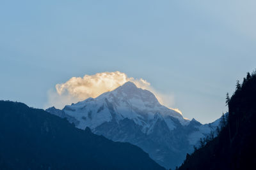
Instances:
[[[113,141],[140,146],[152,159],[166,168],[178,166],[216,124],[202,125],[195,119],[184,119],[180,113],[159,104],[154,94],[127,82],[96,98],[88,98],[63,110],[46,111],[67,118],[79,129]]]

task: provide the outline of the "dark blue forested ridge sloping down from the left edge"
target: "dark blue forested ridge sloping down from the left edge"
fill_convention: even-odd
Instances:
[[[113,142],[26,104],[0,101],[0,169],[164,169],[141,148]]]

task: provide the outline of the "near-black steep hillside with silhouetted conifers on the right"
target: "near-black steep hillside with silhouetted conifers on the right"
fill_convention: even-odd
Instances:
[[[187,155],[183,169],[256,169],[256,74],[248,73],[229,99],[218,137]]]

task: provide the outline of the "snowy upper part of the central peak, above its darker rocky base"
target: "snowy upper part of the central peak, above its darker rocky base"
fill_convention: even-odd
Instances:
[[[104,122],[118,123],[128,118],[140,125],[141,131],[148,133],[148,129],[154,124],[156,114],[163,117],[170,130],[175,127],[170,117],[177,118],[182,125],[189,122],[177,111],[161,105],[152,92],[140,89],[130,81],[99,97],[90,97],[79,103],[67,105],[63,111],[79,121],[77,127],[90,127],[92,130]]]

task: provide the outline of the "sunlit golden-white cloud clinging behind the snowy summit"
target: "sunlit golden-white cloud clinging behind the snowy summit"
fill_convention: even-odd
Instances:
[[[141,89],[150,90],[157,97],[159,103],[167,104],[173,103],[172,96],[164,96],[156,92],[148,81],[142,78],[128,77],[127,74],[119,71],[104,72],[93,75],[84,75],[82,77],[72,77],[65,83],[59,83],[55,89],[48,92],[48,103],[45,108],[55,106],[56,108],[63,108],[67,104],[77,103],[83,101],[88,97],[97,97],[104,92],[109,92],[123,85],[127,81],[133,82]],[[167,103],[164,102],[168,101]]]

